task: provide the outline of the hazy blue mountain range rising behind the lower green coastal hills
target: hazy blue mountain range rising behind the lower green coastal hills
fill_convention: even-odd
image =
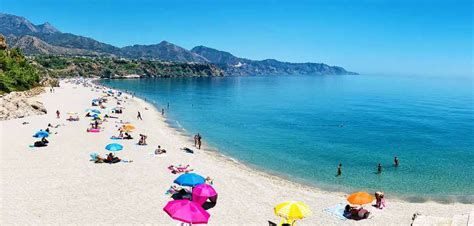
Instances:
[[[0,33],[9,46],[27,55],[118,57],[193,64],[214,64],[225,75],[356,74],[323,63],[289,63],[273,59],[250,60],[217,49],[196,46],[191,50],[162,41],[154,45],[116,47],[92,38],[63,33],[50,23],[35,25],[24,17],[0,13]]]

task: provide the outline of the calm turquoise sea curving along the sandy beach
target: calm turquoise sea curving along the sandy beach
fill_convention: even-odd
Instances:
[[[103,84],[135,92],[160,109],[169,102],[171,124],[283,177],[413,201],[474,200],[470,78],[259,76]],[[339,162],[343,175],[336,177]],[[379,162],[382,174],[375,173]]]

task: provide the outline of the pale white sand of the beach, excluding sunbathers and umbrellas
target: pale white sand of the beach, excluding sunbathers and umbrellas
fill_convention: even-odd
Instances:
[[[299,225],[315,224],[403,224],[411,222],[413,213],[451,218],[474,209],[468,204],[408,203],[391,200],[388,208],[374,211],[374,217],[362,221],[341,221],[323,212],[326,207],[345,201],[345,194],[320,191],[296,183],[269,177],[245,166],[219,157],[215,153],[197,151],[187,154],[180,147],[192,147],[190,138],[167,127],[164,118],[151,105],[135,98],[125,104],[120,119],[131,121],[137,130],[134,140],[118,141],[124,150],[117,155],[133,163],[94,164],[89,153],[105,154],[105,145],[117,135],[115,119],[105,123],[100,133],[87,133],[84,109],[91,99],[101,93],[90,88],[62,84],[56,93],[40,96],[48,109],[47,115],[0,122],[1,128],[1,210],[0,224],[95,224],[150,223],[175,225],[162,211],[170,201],[165,191],[177,175],[167,169],[170,164],[190,164],[195,171],[215,179],[219,193],[216,207],[209,210],[211,225],[268,225],[267,220],[279,222],[273,207],[283,201],[307,203],[313,215]],[[108,106],[115,107],[110,101]],[[145,110],[148,107],[149,110]],[[56,119],[55,111],[62,113]],[[143,121],[136,119],[137,110]],[[66,112],[81,115],[79,122],[65,120]],[[22,122],[28,121],[28,125]],[[30,148],[32,134],[45,129],[48,123],[64,124],[53,129],[50,145]],[[149,135],[148,146],[136,145],[138,134]],[[160,144],[168,150],[166,156],[152,156]]]

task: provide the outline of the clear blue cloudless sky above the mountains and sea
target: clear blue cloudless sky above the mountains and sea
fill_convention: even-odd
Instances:
[[[0,12],[123,47],[169,41],[367,74],[472,76],[471,0],[0,0]]]

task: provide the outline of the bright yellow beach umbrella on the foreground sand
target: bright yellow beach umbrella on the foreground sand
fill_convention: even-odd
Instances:
[[[308,205],[302,202],[283,202],[275,206],[275,215],[283,217],[289,221],[300,220],[311,215]]]

